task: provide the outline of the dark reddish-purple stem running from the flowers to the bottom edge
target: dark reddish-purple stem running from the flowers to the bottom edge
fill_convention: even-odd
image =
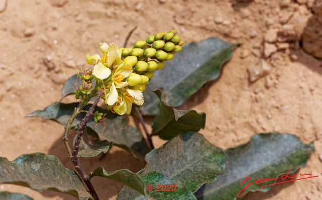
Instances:
[[[77,132],[77,138],[74,144],[74,149],[72,152],[72,158],[71,161],[74,165],[74,167],[77,169],[79,175],[81,175],[82,180],[84,181],[84,183],[86,184],[86,186],[88,187],[92,197],[94,198],[94,200],[99,200],[99,197],[96,194],[96,191],[89,179],[89,176],[86,174],[86,172],[84,171],[81,162],[79,161],[79,157],[78,157],[78,152],[79,152],[79,144],[81,143],[82,140],[82,135],[84,133],[84,130],[86,128],[86,124],[90,119],[91,114],[93,113],[96,105],[99,103],[100,98],[102,95],[102,91],[98,92],[97,98],[95,99],[93,105],[91,106],[91,108],[89,109],[88,113],[86,113],[85,117],[82,120],[82,124],[81,127],[79,128],[78,132]]]

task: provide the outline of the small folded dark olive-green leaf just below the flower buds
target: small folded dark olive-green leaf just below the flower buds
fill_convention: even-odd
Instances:
[[[162,97],[162,91],[154,93],[160,98],[160,113],[153,121],[153,135],[169,140],[179,134],[189,131],[199,131],[205,128],[206,114],[194,110],[177,110],[171,107]]]

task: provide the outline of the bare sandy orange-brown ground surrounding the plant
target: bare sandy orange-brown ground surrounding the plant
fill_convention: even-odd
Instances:
[[[316,152],[300,172],[319,178],[277,185],[244,199],[322,199],[322,62],[299,42],[311,7],[310,0],[0,0],[0,156],[13,160],[24,153],[45,152],[72,168],[62,142],[63,127],[24,116],[58,101],[64,81],[87,66],[85,54],[98,52],[99,42],[121,46],[136,25],[131,45],[177,29],[187,42],[219,37],[240,44],[221,78],[182,106],[207,113],[206,128],[200,132],[214,145],[226,149],[270,131],[314,141]],[[269,74],[250,83],[248,69],[254,71],[261,58]],[[160,146],[164,141],[154,142]],[[99,165],[133,172],[144,167],[116,147],[102,161],[83,163],[87,171]],[[101,199],[115,199],[122,188],[100,178],[94,186]],[[73,199],[13,185],[1,185],[0,190],[35,199]]]

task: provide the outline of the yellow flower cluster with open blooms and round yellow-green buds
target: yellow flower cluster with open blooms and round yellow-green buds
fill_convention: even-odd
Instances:
[[[92,74],[102,83],[108,109],[119,115],[130,114],[132,104],[144,103],[143,91],[153,71],[162,69],[173,54],[181,51],[184,42],[177,31],[160,32],[146,41],[137,41],[133,48],[118,48],[114,43],[100,43],[102,58],[96,54],[86,55],[88,64],[93,64]]]

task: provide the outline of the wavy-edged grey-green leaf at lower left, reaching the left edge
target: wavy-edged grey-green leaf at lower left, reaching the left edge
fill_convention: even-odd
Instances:
[[[10,162],[0,157],[0,184],[11,183],[42,192],[63,192],[79,199],[92,199],[82,180],[67,169],[56,156],[44,153],[24,154]]]

